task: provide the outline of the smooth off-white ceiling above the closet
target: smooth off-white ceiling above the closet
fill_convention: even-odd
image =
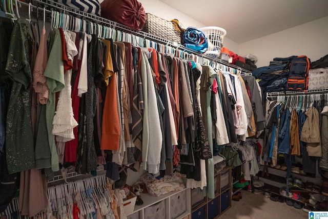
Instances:
[[[160,0],[240,44],[328,16],[328,0]]]

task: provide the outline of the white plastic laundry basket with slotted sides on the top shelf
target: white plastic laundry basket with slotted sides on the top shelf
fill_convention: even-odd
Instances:
[[[223,38],[227,34],[227,31],[220,27],[203,27],[199,28],[207,37],[209,48],[206,54],[219,57],[221,48],[223,46]]]

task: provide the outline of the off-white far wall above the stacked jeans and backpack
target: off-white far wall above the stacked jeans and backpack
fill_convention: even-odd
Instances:
[[[328,16],[239,44],[238,55],[256,55],[257,67],[268,66],[274,57],[291,55],[306,55],[314,62],[328,54],[327,36]]]

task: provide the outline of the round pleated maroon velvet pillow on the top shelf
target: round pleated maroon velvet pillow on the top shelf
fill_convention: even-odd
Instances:
[[[136,0],[105,0],[100,4],[101,17],[141,30],[146,22],[146,12]]]

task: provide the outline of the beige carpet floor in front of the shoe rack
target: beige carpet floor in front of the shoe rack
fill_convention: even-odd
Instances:
[[[232,201],[231,208],[220,218],[229,219],[301,219],[309,218],[308,213],[286,203],[274,202],[263,194],[241,190],[242,199]]]

